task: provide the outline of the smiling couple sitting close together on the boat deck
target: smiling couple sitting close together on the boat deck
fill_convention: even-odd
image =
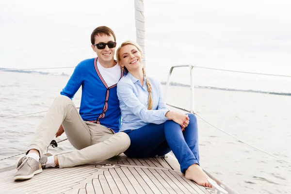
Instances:
[[[128,157],[154,157],[171,150],[186,178],[210,186],[199,166],[198,131],[194,114],[169,111],[161,84],[146,77],[139,46],[127,41],[116,51],[115,34],[97,27],[91,47],[97,58],[76,66],[74,73],[38,126],[26,156],[16,162],[15,180],[32,178],[42,168],[101,162],[124,152]],[[82,86],[78,112],[72,98]],[[122,124],[121,124],[122,116]],[[65,131],[77,150],[44,154],[54,136]]]

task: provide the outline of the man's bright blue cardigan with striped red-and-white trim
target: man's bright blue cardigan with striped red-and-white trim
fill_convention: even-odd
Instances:
[[[107,86],[98,71],[97,58],[87,59],[76,66],[61,95],[72,99],[82,86],[80,106],[82,119],[96,122],[113,129],[113,132],[118,132],[121,113],[116,85]]]

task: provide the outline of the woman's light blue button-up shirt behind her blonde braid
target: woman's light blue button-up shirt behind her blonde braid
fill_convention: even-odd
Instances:
[[[117,83],[117,97],[121,109],[122,124],[119,131],[139,129],[149,123],[161,124],[168,120],[165,114],[169,111],[162,97],[161,83],[149,78],[152,89],[152,110],[147,110],[148,91],[146,77],[144,86],[130,73]]]

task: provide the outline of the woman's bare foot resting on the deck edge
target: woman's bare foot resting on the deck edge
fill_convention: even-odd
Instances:
[[[209,177],[198,164],[192,164],[189,166],[186,170],[185,177],[189,180],[194,180],[198,185],[212,187],[207,180]]]

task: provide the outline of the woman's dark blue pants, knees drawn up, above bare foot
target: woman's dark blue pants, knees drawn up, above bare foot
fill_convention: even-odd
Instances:
[[[181,172],[185,174],[189,166],[199,164],[197,118],[194,114],[188,115],[190,122],[183,132],[181,126],[172,120],[124,131],[130,138],[130,146],[124,154],[132,158],[146,158],[165,155],[172,150]]]

